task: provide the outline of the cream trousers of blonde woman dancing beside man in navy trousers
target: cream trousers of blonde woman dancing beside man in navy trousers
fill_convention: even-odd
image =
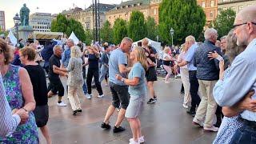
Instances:
[[[181,78],[184,86],[184,104],[191,102],[189,70],[181,68]]]

